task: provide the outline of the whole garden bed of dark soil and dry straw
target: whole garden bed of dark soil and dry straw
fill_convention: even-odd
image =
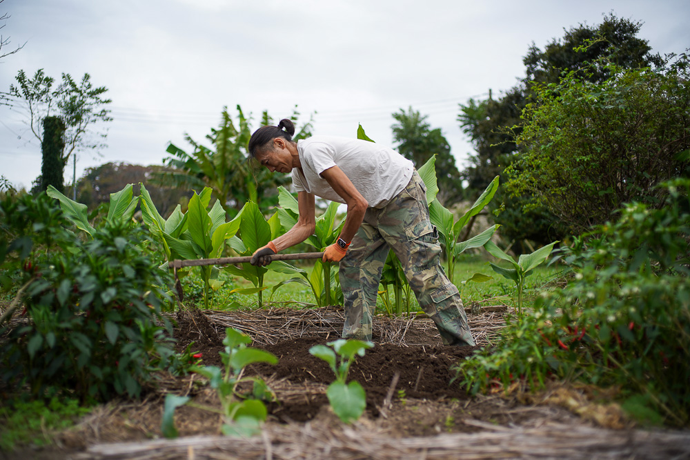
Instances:
[[[470,314],[478,346],[491,341],[504,323],[500,310]],[[262,437],[219,437],[221,422],[190,406],[175,416],[180,438],[161,438],[168,393],[217,406],[215,391],[201,377],[160,375],[139,402],[97,408],[57,438],[61,449],[32,451],[35,458],[672,458],[690,455],[687,432],[633,430],[618,406],[593,401],[586,388],[553,386],[540,395],[502,392],[470,397],[456,383],[451,366],[473,348],[443,346],[426,317],[377,317],[376,346],[358,357],[351,377],[364,386],[367,409],[345,426],[328,406],[333,374],[308,350],[339,338],[341,308],[215,312],[177,315],[178,347],[194,341],[203,363],[219,365],[224,328],[250,334],[253,346],[273,352],[275,366],[253,365],[277,395],[269,405]],[[397,378],[395,377],[397,375]],[[617,429],[612,429],[617,428]],[[23,455],[25,452],[17,452]],[[12,457],[10,457],[12,458]],[[23,458],[23,457],[13,457]]]

